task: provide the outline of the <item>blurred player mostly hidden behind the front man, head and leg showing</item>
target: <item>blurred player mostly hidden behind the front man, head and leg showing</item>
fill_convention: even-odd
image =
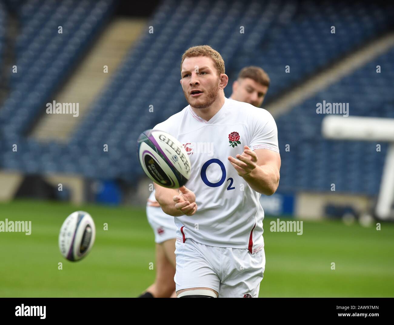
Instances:
[[[232,84],[230,98],[260,107],[269,87],[269,77],[260,67],[245,67]],[[191,148],[188,148],[189,150]],[[155,191],[147,202],[147,218],[155,234],[156,242],[156,279],[140,297],[169,297],[175,290],[175,226],[174,217],[165,214],[155,199]],[[175,293],[171,297],[176,297]]]

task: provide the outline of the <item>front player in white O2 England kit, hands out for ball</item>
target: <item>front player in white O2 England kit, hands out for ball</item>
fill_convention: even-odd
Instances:
[[[180,83],[190,105],[154,127],[197,144],[188,188],[154,184],[162,210],[177,225],[178,297],[258,297],[263,278],[259,198],[279,184],[277,128],[268,111],[225,98],[227,82],[217,51],[189,48]]]

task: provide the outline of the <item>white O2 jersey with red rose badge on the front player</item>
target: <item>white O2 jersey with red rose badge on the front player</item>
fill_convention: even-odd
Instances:
[[[192,238],[204,245],[260,251],[264,247],[261,194],[238,176],[227,158],[242,154],[245,145],[279,153],[272,115],[251,104],[225,98],[222,108],[209,121],[188,105],[154,129],[178,139],[191,162],[186,188],[196,195],[197,212],[174,217],[177,240]]]

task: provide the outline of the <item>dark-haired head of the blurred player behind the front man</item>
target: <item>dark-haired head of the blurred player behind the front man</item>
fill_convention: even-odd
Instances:
[[[245,67],[232,83],[231,99],[260,107],[269,87],[269,76],[260,67]]]

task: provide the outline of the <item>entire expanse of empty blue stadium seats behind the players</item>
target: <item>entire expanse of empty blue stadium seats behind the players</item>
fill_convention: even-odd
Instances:
[[[72,9],[70,3],[74,4]],[[24,173],[61,172],[122,179],[130,184],[143,175],[141,169],[133,167],[138,165],[136,139],[141,131],[187,105],[179,85],[179,63],[189,46],[209,44],[221,52],[231,77],[225,91],[227,97],[238,71],[253,64],[269,73],[272,85],[268,94],[274,98],[363,45],[366,38],[374,39],[392,30],[393,22],[387,12],[394,13],[394,5],[389,3],[382,7],[374,3],[271,0],[165,1],[149,22],[154,32],[144,34],[128,52],[70,142],[59,145],[39,143],[24,133],[40,110],[45,109],[45,101],[67,76],[86,40],[99,30],[113,2],[47,0],[45,5],[39,1],[28,4],[20,12],[24,26],[17,41],[18,76],[13,76],[13,90],[0,109],[0,132],[5,139],[0,151],[1,167]],[[37,11],[37,6],[45,8]],[[40,23],[44,11],[53,12],[57,18]],[[178,33],[184,27],[185,17],[193,28]],[[63,19],[63,35],[57,33],[57,19]],[[332,34],[334,21],[336,33]],[[65,37],[68,41],[64,41]],[[51,50],[41,53],[42,46]],[[320,135],[323,116],[311,112],[316,111],[317,102],[348,102],[348,95],[353,94],[349,102],[351,115],[391,116],[393,101],[384,102],[379,97],[379,93],[390,93],[392,74],[387,71],[394,71],[390,54],[392,57],[392,50],[277,118],[282,150],[278,190],[323,191],[329,189],[327,182],[335,179],[338,191],[377,193],[384,144],[381,154],[376,155],[373,144],[324,140]],[[373,68],[377,64],[385,66],[385,72],[379,76]],[[290,65],[290,73],[284,72],[286,65]],[[150,105],[154,113],[149,112]],[[306,113],[308,110],[310,114]],[[23,150],[11,152],[13,143]],[[291,150],[284,153],[282,148],[287,143]],[[103,151],[104,144],[108,145],[108,152]],[[353,154],[346,155],[351,158],[345,160],[344,152]]]

